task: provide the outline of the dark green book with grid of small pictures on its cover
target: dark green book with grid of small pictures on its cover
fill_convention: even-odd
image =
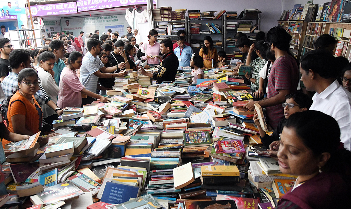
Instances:
[[[194,132],[183,134],[185,147],[197,147],[211,144],[209,132]]]

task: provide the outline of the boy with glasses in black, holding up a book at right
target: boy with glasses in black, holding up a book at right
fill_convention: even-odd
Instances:
[[[278,151],[277,147],[275,147],[278,144],[276,141],[279,141],[279,135],[283,131],[284,123],[286,120],[294,113],[308,110],[312,104],[310,97],[302,92],[295,92],[286,95],[285,99],[285,102],[282,103],[282,106],[284,107],[284,118],[278,123],[277,129],[274,130],[271,136],[266,134],[266,132],[261,128],[258,114],[256,110],[254,110],[253,121],[257,125],[257,128],[260,132],[261,141],[267,149],[270,149],[273,152]]]

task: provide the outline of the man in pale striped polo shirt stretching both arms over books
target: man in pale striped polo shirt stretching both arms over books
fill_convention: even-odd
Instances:
[[[89,39],[87,42],[87,49],[88,52],[83,57],[79,77],[79,80],[87,90],[95,93],[99,78],[124,77],[124,75],[127,74],[127,71],[125,70],[120,71],[119,73],[112,73],[118,68],[121,69],[124,62],[120,62],[118,65],[108,68],[102,64],[98,57],[102,50],[101,41],[98,39]],[[94,100],[93,97],[82,98],[82,105],[90,104]]]

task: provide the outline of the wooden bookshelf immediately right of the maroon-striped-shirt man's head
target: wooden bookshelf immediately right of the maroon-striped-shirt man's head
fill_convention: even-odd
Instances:
[[[306,35],[307,22],[302,20],[278,21],[278,26],[283,27],[290,35],[290,49],[297,60],[302,53],[302,42]]]

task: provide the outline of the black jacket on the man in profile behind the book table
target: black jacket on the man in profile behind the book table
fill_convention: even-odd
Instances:
[[[178,57],[173,51],[165,54],[158,71],[153,73],[152,78],[157,80],[157,83],[176,80],[178,64]]]

